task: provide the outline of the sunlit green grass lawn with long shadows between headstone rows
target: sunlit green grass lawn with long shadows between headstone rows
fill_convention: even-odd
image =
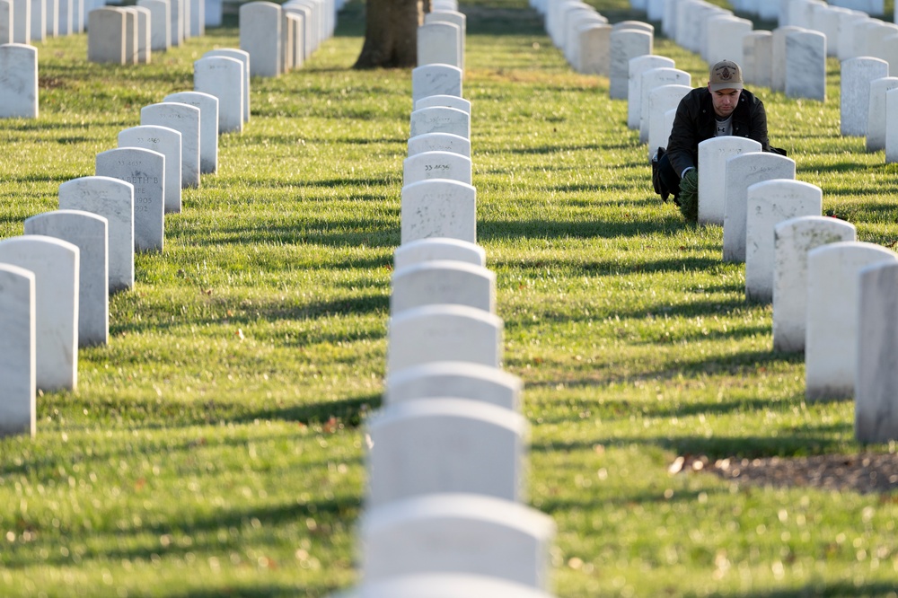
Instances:
[[[621,0],[599,3],[619,21]],[[525,383],[529,501],[558,524],[554,592],[898,595],[898,497],[672,476],[678,455],[894,452],[853,440],[848,401],[806,404],[801,356],[771,351],[722,230],[652,190],[608,80],[576,75],[521,0],[469,13],[464,96],[479,242],[497,273],[505,368]],[[357,580],[366,414],[383,390],[400,242],[409,71],[348,70],[364,16],[302,70],[252,82],[219,171],[167,215],[163,254],[110,302],[110,344],[76,392],[38,398],[38,435],[0,441],[4,596],[324,596]],[[192,89],[234,26],[149,66],[39,45],[40,119],[0,121],[0,238],[55,209],[60,183]],[[707,80],[707,65],[672,42]],[[896,167],[824,103],[764,99],[771,142],[861,241],[898,242]]]

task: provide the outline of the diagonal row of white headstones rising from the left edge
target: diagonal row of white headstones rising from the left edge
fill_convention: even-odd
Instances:
[[[0,241],[0,380],[9,389],[0,435],[35,433],[37,391],[75,391],[78,347],[109,342],[109,296],[134,286],[135,252],[163,251],[164,216],[180,212],[181,189],[216,171],[220,113],[242,124],[249,57],[213,52],[195,63],[195,88],[207,92],[142,108],[140,125],[97,154],[95,174],[59,186],[58,210]]]

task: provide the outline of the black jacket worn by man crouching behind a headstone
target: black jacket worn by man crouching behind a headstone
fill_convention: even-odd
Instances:
[[[711,92],[707,87],[697,87],[683,96],[677,106],[674,128],[667,140],[667,155],[677,176],[690,166],[698,167],[699,144],[713,137],[714,132]],[[739,94],[739,104],[733,110],[733,135],[754,139],[762,145],[762,151],[770,152],[764,102],[748,90]]]

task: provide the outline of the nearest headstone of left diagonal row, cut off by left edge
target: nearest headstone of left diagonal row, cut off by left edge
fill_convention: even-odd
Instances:
[[[0,259],[0,437],[35,433],[34,273]]]

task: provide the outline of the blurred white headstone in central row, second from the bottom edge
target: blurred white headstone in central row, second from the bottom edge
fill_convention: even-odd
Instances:
[[[374,581],[423,571],[471,573],[546,590],[554,535],[548,515],[494,497],[398,500],[362,515],[362,575]]]

